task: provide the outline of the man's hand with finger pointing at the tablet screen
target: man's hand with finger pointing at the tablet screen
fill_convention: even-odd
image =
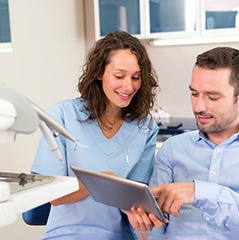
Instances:
[[[169,183],[150,189],[163,213],[178,217],[180,208],[194,203],[194,182]]]

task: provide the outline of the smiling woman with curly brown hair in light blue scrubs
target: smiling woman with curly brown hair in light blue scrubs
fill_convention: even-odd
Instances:
[[[51,116],[89,148],[59,136],[60,162],[41,139],[32,172],[73,176],[71,165],[148,183],[157,124],[150,115],[157,76],[145,47],[126,32],[100,39],[79,79],[79,98],[63,100]],[[80,189],[51,202],[43,239],[130,239],[119,209],[95,202]]]

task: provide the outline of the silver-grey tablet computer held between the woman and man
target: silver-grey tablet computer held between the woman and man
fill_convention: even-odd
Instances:
[[[71,169],[96,202],[127,211],[133,206],[141,207],[164,222],[164,216],[146,184],[75,166]]]

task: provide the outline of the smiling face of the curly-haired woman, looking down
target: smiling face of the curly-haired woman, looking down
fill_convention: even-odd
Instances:
[[[138,59],[129,49],[111,53],[110,63],[99,78],[111,107],[127,107],[141,86]]]

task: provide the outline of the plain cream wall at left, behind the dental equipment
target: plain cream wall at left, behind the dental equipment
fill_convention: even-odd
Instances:
[[[77,96],[85,57],[83,0],[9,0],[13,52],[0,53],[0,81],[48,111]],[[29,172],[40,131],[0,144],[0,171]],[[22,222],[0,228],[1,240],[35,240],[42,227]]]

